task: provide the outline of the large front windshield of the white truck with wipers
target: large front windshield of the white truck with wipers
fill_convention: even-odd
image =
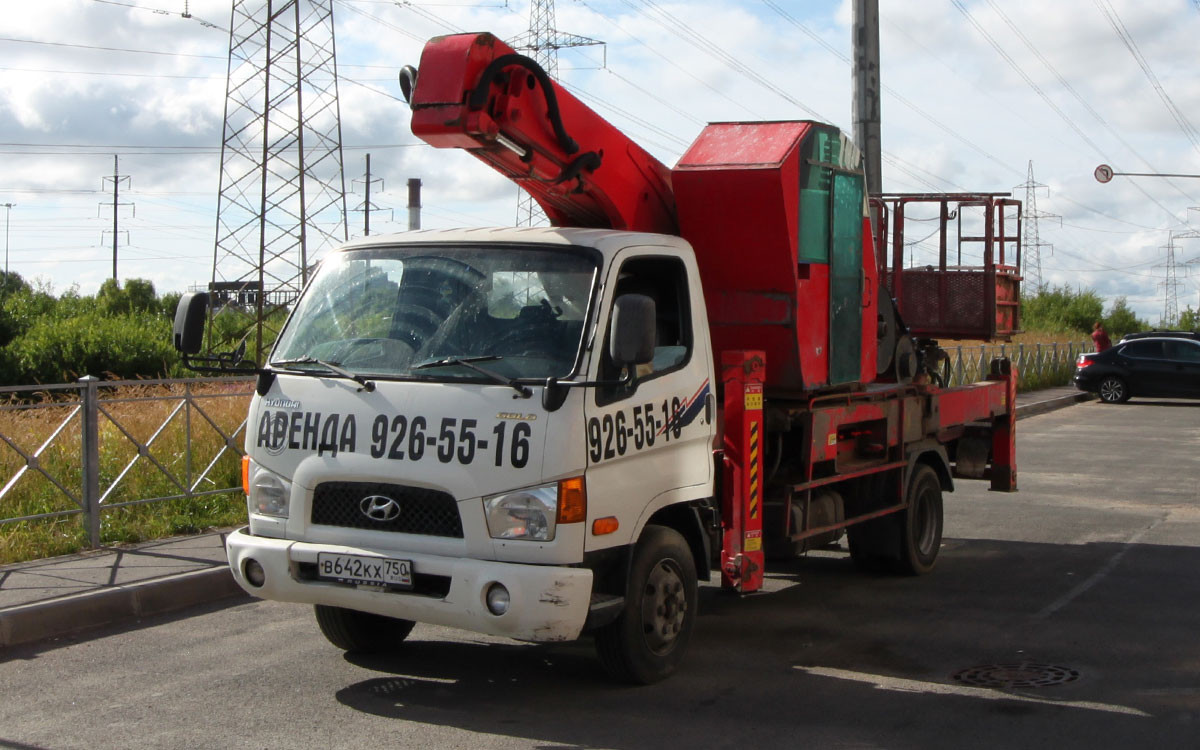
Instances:
[[[271,362],[305,371],[320,360],[384,378],[570,376],[596,268],[593,253],[570,247],[338,252],[305,290]]]

